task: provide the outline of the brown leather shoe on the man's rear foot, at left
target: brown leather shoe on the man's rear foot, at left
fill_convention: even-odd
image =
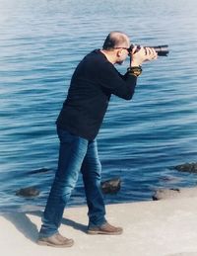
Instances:
[[[74,240],[68,239],[61,234],[56,233],[49,237],[39,237],[37,240],[37,244],[62,248],[71,247],[74,244]]]

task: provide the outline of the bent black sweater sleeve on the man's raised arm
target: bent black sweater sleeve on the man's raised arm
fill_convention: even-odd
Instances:
[[[121,75],[110,62],[98,66],[98,79],[101,87],[122,99],[131,100],[135,92],[137,77],[126,73]]]

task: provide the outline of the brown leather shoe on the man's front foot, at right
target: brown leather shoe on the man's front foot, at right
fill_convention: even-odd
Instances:
[[[88,229],[89,234],[115,235],[115,234],[121,234],[122,232],[123,232],[122,227],[113,226],[113,225],[109,224],[108,222],[106,222],[100,226],[89,227],[89,229]]]

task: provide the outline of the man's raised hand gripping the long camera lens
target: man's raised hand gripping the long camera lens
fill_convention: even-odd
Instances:
[[[140,66],[145,61],[150,61],[158,58],[158,53],[152,47],[141,47],[140,49],[135,46],[132,50],[131,66]]]

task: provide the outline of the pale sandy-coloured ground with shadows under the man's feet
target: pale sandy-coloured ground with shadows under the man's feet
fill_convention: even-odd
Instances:
[[[64,213],[60,232],[71,248],[38,246],[40,212],[0,215],[1,255],[13,256],[197,256],[197,198],[106,206],[107,219],[121,225],[118,236],[88,235],[87,208]]]

